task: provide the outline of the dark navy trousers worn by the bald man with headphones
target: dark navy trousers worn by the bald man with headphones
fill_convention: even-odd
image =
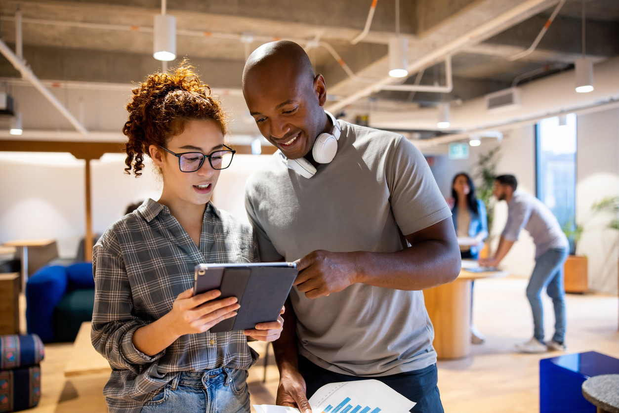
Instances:
[[[387,386],[402,394],[405,398],[416,402],[417,404],[410,410],[411,412],[443,413],[441,395],[438,393],[438,386],[436,386],[438,382],[436,364],[422,368],[421,370],[398,373],[391,376],[360,377],[330,372],[310,362],[302,355],[299,355],[299,372],[305,379],[308,399],[316,393],[316,390],[327,383],[372,378],[382,381]]]

